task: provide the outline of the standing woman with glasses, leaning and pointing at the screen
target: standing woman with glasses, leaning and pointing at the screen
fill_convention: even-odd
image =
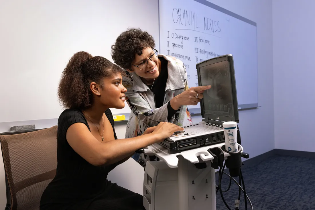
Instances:
[[[188,88],[182,61],[158,54],[153,37],[141,29],[129,29],[112,45],[113,61],[126,69],[123,85],[131,109],[126,138],[141,135],[159,122],[191,125],[187,105],[197,105],[211,86]],[[139,160],[139,154],[133,158]]]

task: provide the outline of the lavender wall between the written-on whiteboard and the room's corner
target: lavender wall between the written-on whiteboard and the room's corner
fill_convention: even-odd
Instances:
[[[274,149],[272,1],[209,2],[257,23],[258,102],[261,108],[239,112],[242,146],[250,157],[255,157]]]

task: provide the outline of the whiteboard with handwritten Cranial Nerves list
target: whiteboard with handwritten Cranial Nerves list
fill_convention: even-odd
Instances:
[[[258,107],[256,23],[205,0],[159,0],[160,52],[184,62],[189,87],[196,64],[232,54],[239,109]],[[200,113],[200,103],[188,106]]]

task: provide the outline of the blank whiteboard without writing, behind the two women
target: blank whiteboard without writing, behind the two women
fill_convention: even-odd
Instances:
[[[143,21],[148,16],[156,18],[148,24]],[[146,30],[159,45],[157,17],[157,0],[3,1],[0,132],[9,125],[5,122],[19,121],[10,126],[37,122],[36,128],[45,124],[43,119],[56,122],[51,119],[57,119],[62,112],[57,88],[72,55],[87,51],[112,61],[111,45],[129,27]],[[112,112],[130,113],[130,108],[126,105]]]

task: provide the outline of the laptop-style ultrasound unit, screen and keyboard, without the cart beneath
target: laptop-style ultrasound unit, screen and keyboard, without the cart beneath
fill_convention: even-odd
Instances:
[[[200,101],[203,120],[174,133],[159,144],[169,154],[225,142],[223,122],[238,120],[238,104],[232,55],[196,64],[198,85],[211,85]]]

